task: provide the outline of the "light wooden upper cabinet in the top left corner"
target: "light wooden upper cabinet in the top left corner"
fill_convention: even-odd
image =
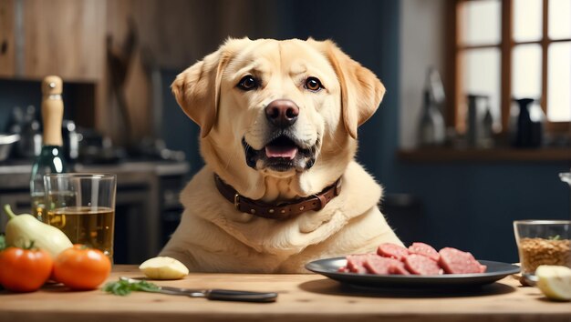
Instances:
[[[102,79],[106,5],[99,0],[0,0],[0,76]]]

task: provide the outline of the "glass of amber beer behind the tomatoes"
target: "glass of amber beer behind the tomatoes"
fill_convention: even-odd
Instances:
[[[44,176],[50,226],[61,229],[74,244],[97,248],[113,259],[113,227],[117,177],[109,174]]]

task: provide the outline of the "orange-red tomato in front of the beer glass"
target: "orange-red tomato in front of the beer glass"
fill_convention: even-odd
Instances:
[[[111,272],[111,261],[100,250],[74,245],[57,255],[54,277],[72,289],[94,289]]]

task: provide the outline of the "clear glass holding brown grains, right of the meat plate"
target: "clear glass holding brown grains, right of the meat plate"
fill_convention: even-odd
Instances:
[[[571,268],[570,220],[516,220],[514,234],[522,273],[540,265]]]

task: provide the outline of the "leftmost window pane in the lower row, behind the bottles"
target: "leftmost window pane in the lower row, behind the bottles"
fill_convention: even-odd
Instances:
[[[501,124],[500,113],[500,50],[498,48],[468,49],[461,54],[462,95],[490,97],[494,126]],[[467,107],[463,106],[460,117],[466,120]]]

